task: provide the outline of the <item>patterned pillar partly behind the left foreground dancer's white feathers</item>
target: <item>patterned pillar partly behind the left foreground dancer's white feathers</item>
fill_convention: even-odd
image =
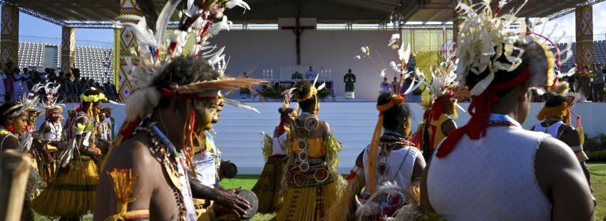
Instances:
[[[135,0],[120,0],[120,15],[131,15],[131,16],[143,16],[143,11],[139,9],[137,6],[137,2]],[[132,19],[121,19],[120,22],[126,23],[131,22],[135,23]],[[128,29],[122,28],[117,29],[114,32],[114,49],[115,55],[118,58],[115,58],[118,61],[115,66],[114,71],[114,82],[118,88],[118,94],[120,95],[120,100],[125,101],[126,98],[133,93],[133,86],[130,85],[130,81],[128,81],[128,76],[130,75],[130,69],[126,65],[126,58],[132,58],[134,64],[138,63],[139,60],[137,56],[133,53],[130,53],[131,48],[137,48],[137,41],[135,41],[135,34]]]

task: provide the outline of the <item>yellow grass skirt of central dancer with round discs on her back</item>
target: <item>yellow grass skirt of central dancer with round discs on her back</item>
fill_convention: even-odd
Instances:
[[[319,183],[314,179],[314,172],[310,169],[307,173],[303,173],[307,176],[307,185],[299,187],[294,183],[292,176],[294,170],[289,170],[288,191],[284,195],[282,207],[273,220],[326,220],[329,208],[337,200],[337,183],[334,175],[330,174],[327,180]]]

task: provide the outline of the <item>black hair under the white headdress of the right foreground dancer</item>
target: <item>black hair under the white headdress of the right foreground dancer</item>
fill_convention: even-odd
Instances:
[[[530,43],[526,43],[526,44],[515,43],[515,46],[518,48],[524,49],[524,53],[522,54],[522,57],[521,57],[522,63],[520,63],[520,65],[517,68],[515,68],[513,71],[505,71],[505,70],[496,71],[495,78],[491,82],[491,86],[497,85],[499,83],[505,83],[507,81],[511,81],[511,79],[519,76],[524,71],[524,69],[528,67],[528,62],[529,62],[530,58],[540,57],[540,58],[543,58],[545,61],[547,61],[547,57],[545,56],[545,53],[543,52],[543,48],[540,48],[541,46],[538,43],[535,43],[535,42],[530,42]],[[536,53],[536,52],[539,52],[539,53]],[[513,51],[511,56],[518,56],[520,53],[521,53],[521,51],[519,49],[516,49]],[[493,59],[493,57],[491,58],[491,60],[492,59]],[[499,58],[497,58],[497,61],[500,61],[501,63],[510,63],[507,60],[507,57],[505,56],[504,53]],[[490,71],[488,70],[488,68],[486,68],[486,70],[480,74],[469,73],[465,77],[465,83],[468,86],[468,88],[470,88],[470,90],[471,90],[471,88],[476,86],[477,83],[479,83],[484,78],[486,78],[489,73],[490,73]],[[495,91],[495,95],[498,97],[503,97],[511,90],[513,90],[513,88],[507,88],[504,90]]]

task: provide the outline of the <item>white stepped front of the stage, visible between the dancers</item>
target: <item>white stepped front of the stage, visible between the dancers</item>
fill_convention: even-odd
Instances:
[[[408,103],[413,113],[412,130],[421,120],[423,110],[418,103]],[[469,103],[461,103],[467,108]],[[67,108],[72,108],[68,103]],[[232,160],[238,165],[240,174],[260,174],[265,164],[261,152],[261,132],[273,133],[274,127],[279,123],[277,109],[282,106],[279,102],[251,102],[261,114],[226,106],[221,112],[221,120],[215,125],[217,131],[215,142],[222,151],[222,158]],[[121,124],[124,119],[124,106],[111,106],[115,122]],[[292,104],[294,106],[294,104]],[[378,112],[374,102],[326,102],[320,103],[319,118],[326,120],[335,137],[343,143],[343,151],[339,154],[339,170],[349,173],[357,155],[371,140],[372,131],[376,125]],[[530,128],[538,123],[535,115],[540,111],[543,103],[532,103],[528,119],[523,123],[524,128]],[[606,133],[606,103],[577,103],[572,109],[582,116],[582,125],[585,133],[596,135]],[[469,115],[458,111],[457,125],[463,125],[469,120]],[[38,118],[40,125],[42,118]],[[118,125],[119,127],[119,125]]]

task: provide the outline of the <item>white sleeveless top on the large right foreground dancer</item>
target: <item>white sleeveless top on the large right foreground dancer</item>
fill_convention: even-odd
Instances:
[[[433,155],[427,174],[433,209],[448,220],[550,220],[534,168],[548,136],[518,126],[489,127],[480,140],[463,135],[446,157]]]

